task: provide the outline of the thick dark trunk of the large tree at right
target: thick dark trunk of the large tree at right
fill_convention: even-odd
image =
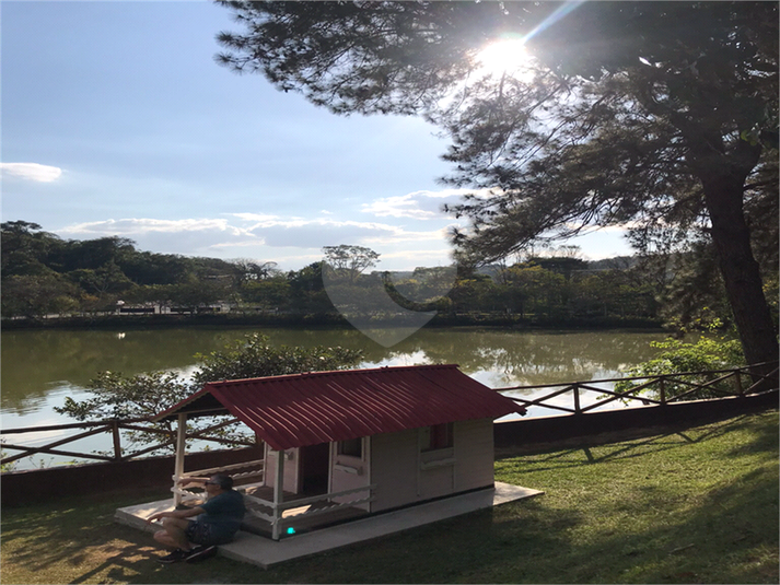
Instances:
[[[743,212],[744,176],[702,177],[726,295],[748,364],[778,359],[778,340]]]

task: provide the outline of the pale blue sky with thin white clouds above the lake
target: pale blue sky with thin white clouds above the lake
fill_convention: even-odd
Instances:
[[[2,221],[65,239],[300,269],[324,246],[380,270],[451,264],[446,140],[414,117],[336,116],[217,65],[208,1],[0,1]],[[463,220],[461,220],[463,222]],[[566,242],[631,254],[619,230]]]

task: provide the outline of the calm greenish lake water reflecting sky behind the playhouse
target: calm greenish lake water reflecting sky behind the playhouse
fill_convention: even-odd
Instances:
[[[650,342],[665,338],[663,332],[631,330],[446,328],[421,329],[385,348],[357,330],[198,327],[3,331],[0,424],[16,429],[73,422],[53,407],[61,406],[67,396],[86,396],[89,381],[100,371],[130,375],[165,370],[186,376],[196,368],[196,353],[219,350],[229,341],[258,331],[273,344],[361,349],[361,367],[456,363],[464,373],[492,388],[615,377],[650,359],[654,353]],[[526,399],[532,395],[523,391]],[[535,408],[528,416],[557,412]],[[27,435],[23,444],[45,444],[57,436],[57,432]],[[75,445],[62,448],[78,451]],[[47,463],[57,463],[56,457],[44,457]],[[18,469],[28,465],[20,461]]]

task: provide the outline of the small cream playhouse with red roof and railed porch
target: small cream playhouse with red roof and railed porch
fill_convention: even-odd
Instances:
[[[491,489],[493,419],[512,412],[525,410],[456,365],[420,365],[210,383],[155,420],[178,421],[176,504],[200,496],[182,478],[231,473],[243,483],[246,529],[279,540],[317,516],[344,520]],[[263,459],[185,470],[187,418],[224,413],[263,441]]]

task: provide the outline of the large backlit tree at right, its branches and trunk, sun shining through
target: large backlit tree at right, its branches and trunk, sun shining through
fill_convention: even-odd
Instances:
[[[644,249],[706,238],[747,361],[777,359],[750,237],[778,247],[761,214],[777,211],[777,2],[220,3],[243,27],[219,35],[223,65],[450,136],[444,180],[474,189],[451,208],[469,220],[463,257],[593,226],[630,226]],[[481,72],[479,51],[512,36],[527,71]]]

